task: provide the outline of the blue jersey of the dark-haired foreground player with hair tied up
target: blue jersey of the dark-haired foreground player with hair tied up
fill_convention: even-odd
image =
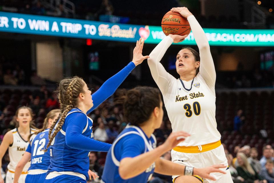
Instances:
[[[105,183],[146,183],[152,177],[155,169],[153,163],[140,175],[124,180],[119,175],[120,161],[126,157],[136,157],[156,148],[156,139],[152,134],[150,138],[138,126],[128,125],[116,138],[106,156],[102,175]],[[138,166],[138,165],[136,165]]]

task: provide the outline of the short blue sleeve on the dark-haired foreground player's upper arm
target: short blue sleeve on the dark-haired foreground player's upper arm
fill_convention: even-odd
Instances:
[[[118,147],[117,147],[118,145]],[[145,151],[145,143],[141,136],[137,134],[129,134],[123,137],[120,142],[117,143],[115,148],[120,148],[121,159],[134,158]]]

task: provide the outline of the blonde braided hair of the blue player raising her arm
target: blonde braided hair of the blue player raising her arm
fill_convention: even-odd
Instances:
[[[61,130],[68,112],[77,105],[79,94],[84,93],[84,83],[84,80],[78,76],[65,78],[60,81],[58,87],[58,99],[60,102],[61,112],[49,129],[49,143],[47,144],[47,148],[49,148],[53,138],[55,138],[56,134]],[[53,134],[51,134],[56,124],[57,126],[55,130]]]

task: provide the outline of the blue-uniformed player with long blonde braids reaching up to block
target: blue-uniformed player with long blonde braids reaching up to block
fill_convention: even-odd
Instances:
[[[109,98],[128,74],[149,56],[142,55],[144,41],[136,42],[133,59],[108,79],[94,94],[80,77],[65,78],[59,83],[61,114],[49,130],[51,164],[45,183],[86,182],[90,151],[107,152],[111,144],[93,139],[92,119],[87,114]],[[93,101],[93,100],[94,101]]]

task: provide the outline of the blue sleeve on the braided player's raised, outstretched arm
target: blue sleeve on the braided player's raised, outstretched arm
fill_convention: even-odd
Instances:
[[[135,68],[135,64],[130,62],[126,67],[120,70],[117,74],[110,77],[104,84],[92,94],[93,107],[86,114],[96,109],[102,102],[112,96],[120,84],[126,79],[129,73]]]

